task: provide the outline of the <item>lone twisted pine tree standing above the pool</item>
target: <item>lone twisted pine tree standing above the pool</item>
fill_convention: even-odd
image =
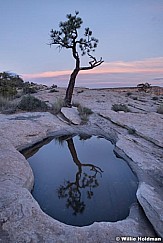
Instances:
[[[92,36],[92,31],[89,28],[85,28],[85,33],[83,38],[79,38],[78,29],[80,29],[83,21],[78,17],[79,12],[75,12],[75,15],[68,14],[67,21],[60,22],[60,30],[51,30],[50,45],[58,45],[59,49],[67,48],[71,49],[72,56],[75,59],[75,68],[70,75],[69,84],[66,90],[65,105],[71,107],[72,94],[75,86],[76,77],[81,70],[93,69],[101,65],[104,61],[102,57],[97,60],[92,52],[95,51],[98,39]],[[89,58],[89,65],[81,67],[80,65],[80,55],[87,55]]]

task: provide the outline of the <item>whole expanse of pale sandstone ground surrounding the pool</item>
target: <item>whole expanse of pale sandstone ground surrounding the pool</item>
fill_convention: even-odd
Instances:
[[[34,95],[50,106],[64,97],[65,89],[57,88],[57,91],[43,90]],[[153,98],[156,96],[158,99]],[[87,124],[74,125],[73,121],[67,122],[49,112],[0,114],[0,242],[108,243],[121,241],[122,238],[116,237],[123,236],[131,237],[128,242],[142,242],[144,237],[150,237],[150,242],[160,241],[159,237],[163,237],[163,115],[156,111],[163,95],[76,88],[73,101],[93,111]],[[117,103],[126,104],[130,112],[113,111],[111,107]],[[32,197],[34,176],[19,151],[48,136],[71,133],[102,135],[109,139],[115,144],[115,152],[137,175],[138,203],[132,206],[125,220],[68,226],[42,212]]]

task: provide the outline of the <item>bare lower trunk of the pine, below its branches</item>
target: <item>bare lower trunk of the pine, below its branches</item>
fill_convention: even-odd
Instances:
[[[65,96],[65,106],[67,107],[71,107],[71,100],[72,100],[72,94],[73,94],[73,90],[74,90],[74,86],[75,86],[75,80],[76,80],[76,76],[78,75],[79,72],[79,68],[75,68],[74,71],[72,72],[71,76],[70,76],[70,80],[69,80],[69,84],[66,90],[66,96]]]

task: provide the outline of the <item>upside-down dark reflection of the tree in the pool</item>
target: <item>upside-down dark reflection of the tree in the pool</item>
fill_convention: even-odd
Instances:
[[[83,164],[79,161],[72,138],[66,140],[74,163],[77,165],[75,181],[64,181],[64,184],[57,189],[59,198],[67,198],[66,207],[73,209],[73,214],[83,213],[85,202],[81,199],[81,190],[86,189],[87,198],[93,197],[93,189],[99,186],[97,176],[102,177],[100,167],[93,164]],[[89,168],[89,173],[83,172],[83,168]]]

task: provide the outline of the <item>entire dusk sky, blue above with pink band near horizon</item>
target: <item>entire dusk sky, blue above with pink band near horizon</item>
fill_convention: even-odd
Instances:
[[[80,36],[90,27],[99,39],[95,55],[105,62],[80,72],[76,86],[163,86],[163,0],[0,0],[0,8],[0,71],[67,86],[74,68],[71,52],[48,43],[50,30],[78,10]]]

